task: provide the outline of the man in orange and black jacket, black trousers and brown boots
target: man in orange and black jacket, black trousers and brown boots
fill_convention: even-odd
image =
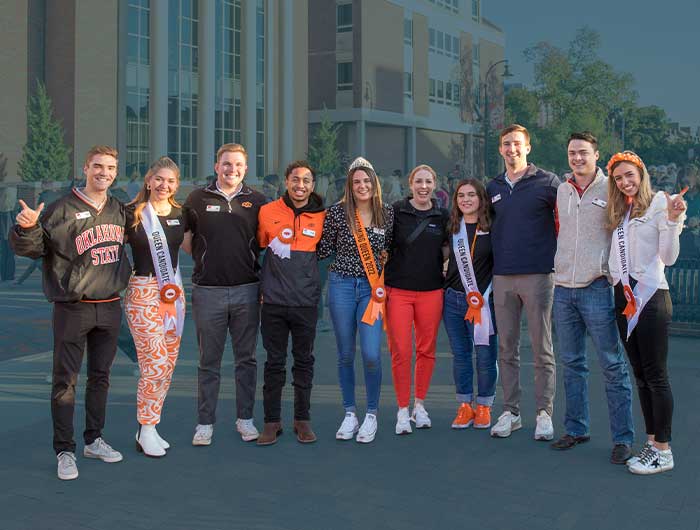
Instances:
[[[314,338],[321,297],[316,245],[325,212],[313,192],[316,174],[305,160],[285,171],[287,192],[260,208],[258,242],[267,247],[262,266],[260,326],[267,350],[263,400],[265,426],[258,445],[271,445],[282,433],[281,400],[287,341],[292,335],[294,432],[301,443],[316,441],[309,416],[314,375]]]

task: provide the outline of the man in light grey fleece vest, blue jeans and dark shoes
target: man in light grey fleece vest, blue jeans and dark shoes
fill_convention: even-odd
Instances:
[[[610,461],[632,455],[632,384],[620,348],[608,273],[610,231],[605,207],[608,179],[596,162],[598,140],[573,133],[567,147],[571,173],[557,190],[559,236],[554,257],[554,324],[564,363],[566,434],[553,449],[570,449],[590,439],[586,331],[603,370],[613,450]]]

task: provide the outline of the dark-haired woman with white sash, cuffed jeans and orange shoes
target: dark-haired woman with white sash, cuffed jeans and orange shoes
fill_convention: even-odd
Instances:
[[[491,426],[491,406],[498,379],[498,344],[492,309],[493,253],[489,228],[489,200],[484,185],[477,179],[461,180],[452,197],[443,310],[454,355],[452,371],[459,403],[453,429]],[[476,410],[472,408],[473,351],[476,352]]]

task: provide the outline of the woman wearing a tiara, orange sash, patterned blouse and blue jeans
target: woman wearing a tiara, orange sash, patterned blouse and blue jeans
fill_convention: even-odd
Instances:
[[[384,324],[384,261],[391,246],[394,210],[382,204],[377,174],[367,160],[357,158],[348,170],[343,199],[328,208],[320,259],[335,254],[329,267],[328,308],[338,346],[338,377],[345,418],[335,437],[370,443],[377,433],[377,409],[382,384],[381,339]],[[358,427],[355,405],[355,336],[365,369],[367,414]]]

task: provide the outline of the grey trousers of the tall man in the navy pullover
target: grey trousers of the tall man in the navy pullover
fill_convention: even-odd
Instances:
[[[552,415],[556,364],[552,349],[553,274],[493,277],[493,302],[498,325],[498,368],[503,386],[503,409],[520,414],[520,320],[527,316],[535,361],[537,412]]]

